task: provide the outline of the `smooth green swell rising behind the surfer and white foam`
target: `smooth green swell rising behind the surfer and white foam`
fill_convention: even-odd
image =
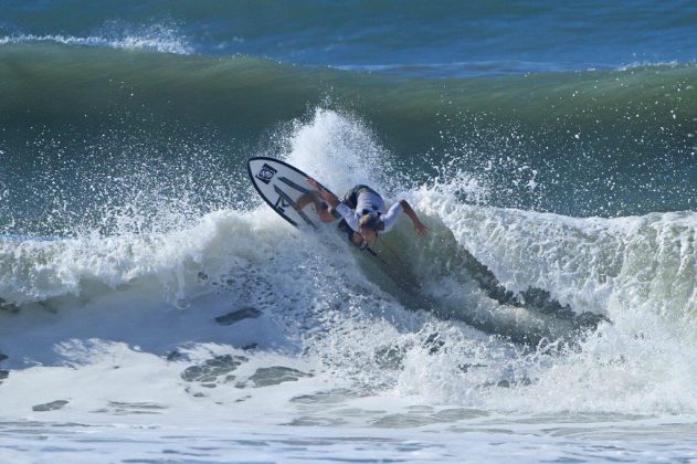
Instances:
[[[170,198],[184,186],[197,213],[243,199],[246,187],[230,180],[243,160],[277,156],[285,134],[319,107],[360,120],[409,184],[476,178],[488,193],[463,186],[468,201],[572,215],[690,209],[695,77],[694,65],[664,65],[425,80],[247,56],[6,44],[0,180],[19,208],[0,219],[30,232],[57,201],[97,220],[95,204],[134,189]],[[108,190],[104,200],[95,189]]]

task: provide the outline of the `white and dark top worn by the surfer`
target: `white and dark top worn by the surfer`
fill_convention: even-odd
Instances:
[[[363,214],[376,213],[383,224],[381,232],[388,232],[404,209],[397,202],[386,210],[384,200],[374,190],[367,186],[356,186],[344,196],[336,211],[356,232],[360,230],[359,221]]]

